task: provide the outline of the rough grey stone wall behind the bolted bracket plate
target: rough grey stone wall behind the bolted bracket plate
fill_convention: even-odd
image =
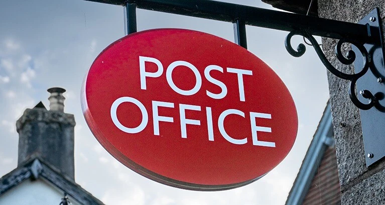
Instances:
[[[383,19],[385,0],[318,0],[320,17],[348,22],[358,22],[375,7],[379,8]],[[382,30],[383,28],[385,24],[382,22]],[[337,62],[334,54],[336,42],[334,39],[322,38],[322,47],[326,56],[340,71],[352,73],[354,70],[352,66]],[[328,72],[328,80],[341,202],[342,204],[385,204],[385,160],[382,159],[366,167],[359,109],[350,101],[347,92],[350,82],[330,72]]]

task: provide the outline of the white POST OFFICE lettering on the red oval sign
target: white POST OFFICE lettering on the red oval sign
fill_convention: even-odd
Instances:
[[[139,67],[140,67],[141,89],[147,89],[146,78],[147,77],[154,77],[154,78],[160,77],[164,72],[163,64],[160,60],[158,60],[154,57],[145,57],[145,56],[139,56],[139,62],[140,62]],[[147,72],[145,62],[155,63],[158,67],[157,71]],[[195,82],[195,85],[192,89],[183,90],[183,89],[180,89],[179,87],[177,87],[175,85],[175,83],[172,79],[172,71],[177,66],[186,66],[193,71],[195,78],[196,78],[196,82]],[[218,66],[218,65],[208,65],[208,66],[206,66],[206,68],[204,70],[205,78],[209,82],[218,85],[221,88],[221,92],[220,93],[212,93],[212,92],[206,90],[206,94],[207,94],[207,96],[209,96],[211,98],[221,99],[221,98],[226,96],[227,87],[223,82],[221,82],[218,79],[213,78],[210,75],[211,70],[218,70],[220,72],[223,72],[223,68]],[[227,67],[226,71],[236,74],[237,82],[238,82],[239,100],[245,101],[243,75],[252,75],[252,71],[246,70],[246,69],[231,68],[231,67]],[[193,64],[191,64],[187,61],[183,61],[183,60],[174,61],[167,67],[166,79],[167,79],[167,82],[170,85],[170,87],[175,92],[182,94],[182,95],[193,95],[199,91],[199,89],[201,88],[201,85],[202,85],[202,77],[201,77],[198,69]],[[121,124],[120,121],[118,120],[117,113],[116,113],[117,107],[123,102],[131,102],[140,108],[141,113],[142,113],[142,121],[137,127],[134,127],[134,128],[126,127],[123,124]],[[154,135],[160,135],[160,127],[159,127],[160,121],[171,122],[171,123],[174,122],[174,118],[171,116],[159,115],[159,113],[158,113],[159,107],[175,108],[175,103],[152,100],[152,111],[153,111],[152,117],[153,117]],[[182,103],[179,104],[180,129],[181,129],[181,137],[182,138],[187,138],[187,128],[186,128],[187,124],[198,125],[198,126],[201,125],[201,121],[198,119],[186,118],[186,114],[185,114],[186,110],[201,111],[201,106],[192,105],[192,104],[182,104]],[[206,123],[207,123],[208,140],[214,141],[212,107],[207,106],[207,107],[205,107],[205,110],[206,110],[206,119],[207,119]],[[141,101],[139,101],[138,99],[136,99],[134,97],[130,97],[130,96],[124,96],[124,97],[117,98],[111,105],[110,114],[111,114],[111,119],[112,119],[113,123],[116,125],[116,127],[119,128],[120,130],[126,132],[126,133],[138,133],[138,132],[143,131],[146,128],[148,121],[149,121],[148,112],[147,112],[146,107],[143,105],[143,103]],[[227,141],[229,141],[233,144],[245,144],[245,143],[247,143],[247,137],[244,137],[242,139],[236,139],[236,138],[233,138],[227,134],[225,127],[224,127],[224,120],[230,114],[236,114],[236,115],[242,116],[243,118],[246,117],[245,113],[241,110],[238,110],[238,109],[226,109],[226,110],[224,110],[223,112],[220,113],[218,121],[217,121],[219,132]],[[249,112],[249,120],[250,120],[250,124],[251,124],[250,128],[251,128],[252,144],[256,145],[256,146],[275,147],[276,146],[275,142],[258,140],[258,135],[257,135],[258,131],[272,132],[272,129],[271,129],[271,127],[257,126],[256,125],[256,118],[271,119],[272,116],[269,113],[260,113],[260,112],[251,112],[251,111]]]

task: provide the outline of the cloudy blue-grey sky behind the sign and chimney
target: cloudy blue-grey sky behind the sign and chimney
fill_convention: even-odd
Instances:
[[[226,0],[273,9],[259,0]],[[326,69],[312,47],[299,58],[285,49],[288,32],[247,26],[248,49],[282,78],[296,103],[299,127],[288,156],[261,179],[235,189],[201,192],[145,178],[114,159],[82,114],[80,90],[95,57],[124,36],[123,7],[84,0],[4,1],[0,7],[0,176],[17,167],[16,120],[60,86],[75,115],[75,180],[106,204],[284,204],[329,98]],[[138,30],[187,28],[233,41],[232,24],[137,10]],[[320,41],[320,38],[317,38]],[[302,41],[293,40],[293,47]],[[297,43],[297,44],[296,44]]]

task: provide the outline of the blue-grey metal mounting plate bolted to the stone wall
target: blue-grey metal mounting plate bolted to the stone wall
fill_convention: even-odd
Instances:
[[[368,51],[372,61],[369,65],[369,70],[357,81],[357,90],[367,89],[377,98],[378,103],[368,109],[360,109],[362,136],[365,147],[366,166],[373,164],[385,156],[385,66],[384,55],[382,49],[382,33],[381,33],[381,18],[378,15],[378,9],[373,9],[368,15],[362,18],[359,24],[369,24],[377,27],[376,33],[372,35],[379,35],[374,42],[365,43],[364,46]],[[355,53],[360,53],[355,46],[352,46]],[[362,58],[357,56],[354,61],[355,72],[359,72],[359,67],[362,65]],[[378,82],[379,81],[379,82]],[[358,99],[366,103],[367,99],[358,94]]]

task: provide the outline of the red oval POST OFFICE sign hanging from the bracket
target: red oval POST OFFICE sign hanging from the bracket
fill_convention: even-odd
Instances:
[[[127,35],[105,48],[83,85],[97,140],[158,182],[223,190],[259,179],[297,135],[294,101],[261,59],[185,29]]]

